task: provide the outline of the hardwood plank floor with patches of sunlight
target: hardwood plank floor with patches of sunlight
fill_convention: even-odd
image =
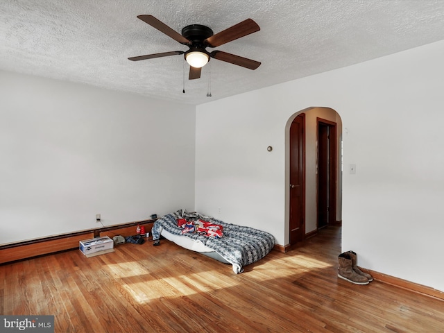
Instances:
[[[6,264],[0,314],[53,314],[56,332],[444,332],[443,301],[337,278],[340,235],[324,228],[239,275],[167,240]]]

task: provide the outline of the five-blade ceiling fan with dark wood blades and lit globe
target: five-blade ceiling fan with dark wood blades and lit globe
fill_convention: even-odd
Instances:
[[[234,26],[221,31],[220,33],[216,33],[216,35],[214,35],[213,31],[207,26],[203,26],[201,24],[191,24],[189,26],[185,26],[185,28],[182,29],[182,35],[180,35],[177,31],[174,31],[172,28],[167,26],[167,24],[160,22],[160,20],[156,19],[152,15],[139,15],[137,18],[142,19],[143,22],[153,26],[158,31],[168,35],[180,44],[187,45],[189,50],[153,53],[147,54],[146,56],[131,57],[128,58],[129,60],[138,61],[183,54],[185,56],[185,60],[187,60],[190,65],[188,77],[189,80],[200,78],[200,71],[202,70],[202,67],[210,61],[210,58],[230,62],[230,64],[253,70],[257,69],[257,67],[261,65],[261,63],[258,61],[236,56],[231,53],[217,50],[208,52],[206,50],[207,47],[221,46],[225,43],[231,42],[232,40],[237,40],[240,37],[244,37],[246,35],[250,35],[250,33],[259,31],[260,28],[257,23],[253,21],[253,19],[246,19],[245,21],[235,24]]]

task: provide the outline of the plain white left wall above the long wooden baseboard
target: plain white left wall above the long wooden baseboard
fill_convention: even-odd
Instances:
[[[0,72],[0,244],[194,208],[195,108]]]

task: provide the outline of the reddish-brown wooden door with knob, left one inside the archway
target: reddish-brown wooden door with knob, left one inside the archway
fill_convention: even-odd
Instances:
[[[302,241],[305,235],[305,114],[296,117],[290,126],[290,244]]]

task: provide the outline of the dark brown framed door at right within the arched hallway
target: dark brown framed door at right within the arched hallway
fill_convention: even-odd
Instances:
[[[318,229],[336,223],[336,123],[318,118]]]

